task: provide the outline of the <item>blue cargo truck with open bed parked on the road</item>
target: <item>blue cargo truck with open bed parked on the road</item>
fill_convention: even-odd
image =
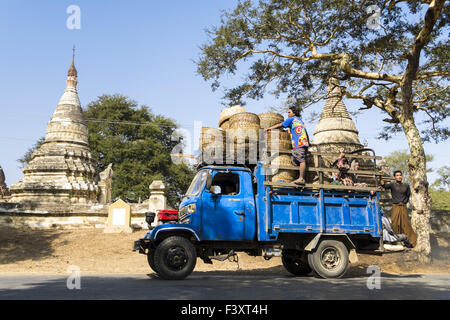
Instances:
[[[272,183],[267,165],[200,168],[183,197],[178,221],[134,242],[162,279],[184,279],[197,258],[224,261],[236,252],[270,259],[301,276],[342,277],[357,252],[382,252],[375,188]],[[154,214],[147,213],[149,224]]]

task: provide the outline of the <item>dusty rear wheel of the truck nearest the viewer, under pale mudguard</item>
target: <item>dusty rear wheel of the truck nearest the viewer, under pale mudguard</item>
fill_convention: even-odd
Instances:
[[[322,240],[316,250],[308,254],[308,264],[315,276],[340,278],[349,264],[348,249],[341,241]]]

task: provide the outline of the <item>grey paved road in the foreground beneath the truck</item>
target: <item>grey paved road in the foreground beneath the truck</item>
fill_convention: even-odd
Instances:
[[[195,272],[182,281],[153,274],[83,275],[79,290],[65,275],[0,275],[0,299],[450,299],[450,275],[382,275],[380,289],[361,276],[324,280],[289,275]],[[76,285],[71,279],[70,284]]]

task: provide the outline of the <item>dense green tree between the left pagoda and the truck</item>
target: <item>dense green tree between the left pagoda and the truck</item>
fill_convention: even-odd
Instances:
[[[83,113],[97,172],[113,163],[113,198],[148,199],[151,182],[163,180],[168,204],[178,205],[193,171],[171,160],[171,150],[180,143],[171,141],[177,127],[172,120],[122,95],[100,96]]]

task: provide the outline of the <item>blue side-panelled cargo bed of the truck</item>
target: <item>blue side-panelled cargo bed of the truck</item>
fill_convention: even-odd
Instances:
[[[343,233],[380,237],[379,193],[374,187],[268,181],[264,166],[256,169],[258,239],[274,241],[280,233]]]

